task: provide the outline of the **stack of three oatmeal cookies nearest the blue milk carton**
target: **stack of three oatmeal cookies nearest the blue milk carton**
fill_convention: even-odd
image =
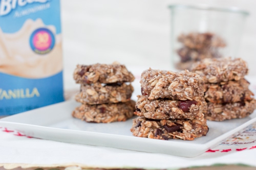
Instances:
[[[74,80],[81,84],[75,100],[82,103],[73,117],[94,123],[125,121],[134,115],[131,100],[134,76],[119,63],[77,65]]]

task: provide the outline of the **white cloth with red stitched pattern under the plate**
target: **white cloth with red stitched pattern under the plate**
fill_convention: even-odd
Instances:
[[[256,123],[194,158],[36,139],[5,127],[0,127],[0,153],[0,165],[12,167],[69,164],[90,168],[178,169],[220,163],[256,166]]]

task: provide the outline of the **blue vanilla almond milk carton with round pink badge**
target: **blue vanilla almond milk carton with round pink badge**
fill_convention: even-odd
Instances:
[[[59,0],[0,0],[0,116],[62,101]]]

